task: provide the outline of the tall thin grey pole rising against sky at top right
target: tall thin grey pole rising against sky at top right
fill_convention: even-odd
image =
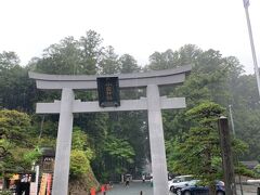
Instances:
[[[259,69],[258,69],[257,55],[256,55],[256,50],[255,50],[255,44],[252,39],[251,23],[250,23],[250,17],[248,13],[248,6],[250,3],[249,3],[249,0],[243,0],[243,2],[244,2],[245,12],[246,12],[246,20],[247,20],[248,34],[249,34],[250,44],[251,44],[251,54],[252,54],[252,61],[253,61],[253,67],[255,67],[255,75],[257,77],[258,93],[260,96]]]

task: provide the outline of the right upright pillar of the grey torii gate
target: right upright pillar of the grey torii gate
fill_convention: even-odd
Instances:
[[[154,195],[168,195],[165,138],[158,86],[148,84],[146,94]]]

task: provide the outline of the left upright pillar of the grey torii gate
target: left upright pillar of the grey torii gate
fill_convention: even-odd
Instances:
[[[62,90],[56,155],[54,165],[53,195],[68,194],[69,157],[73,134],[74,91],[69,88]],[[57,164],[58,162],[58,164]]]

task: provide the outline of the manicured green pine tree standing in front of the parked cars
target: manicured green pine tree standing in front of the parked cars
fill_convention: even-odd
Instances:
[[[190,109],[186,116],[192,119],[192,128],[180,144],[182,158],[176,169],[193,173],[209,184],[209,194],[214,194],[216,180],[221,177],[221,153],[217,120],[224,108],[206,102]]]

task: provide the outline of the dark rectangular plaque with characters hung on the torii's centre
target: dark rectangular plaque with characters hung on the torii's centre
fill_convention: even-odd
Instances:
[[[100,106],[120,106],[118,77],[99,77],[96,81]]]

